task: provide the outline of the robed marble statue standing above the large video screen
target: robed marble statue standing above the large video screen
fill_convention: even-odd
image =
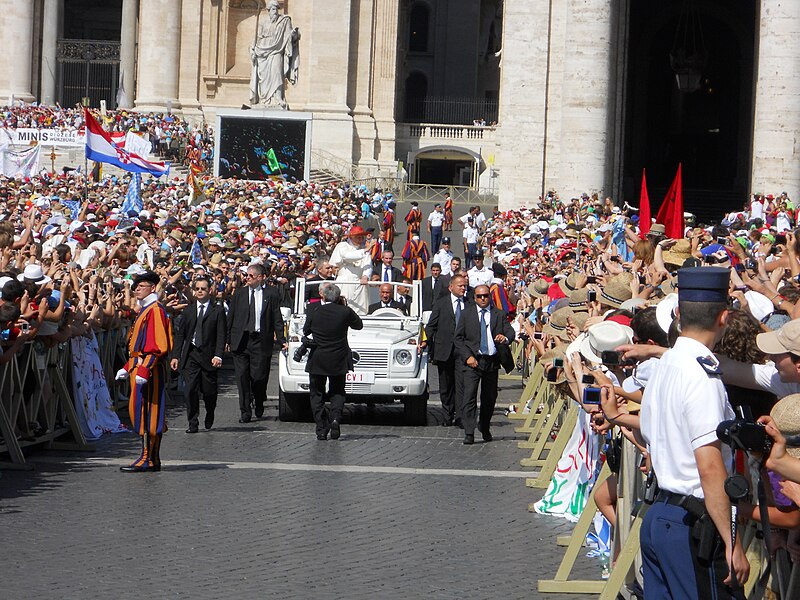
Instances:
[[[297,83],[300,33],[292,28],[291,17],[278,14],[278,8],[277,0],[267,2],[267,19],[258,24],[250,48],[250,104],[286,110],[286,80]]]

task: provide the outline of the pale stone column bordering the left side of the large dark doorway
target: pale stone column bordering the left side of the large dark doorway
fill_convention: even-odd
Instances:
[[[612,8],[608,0],[569,0],[561,113],[562,198],[610,193],[608,135]],[[556,50],[558,51],[558,50]]]

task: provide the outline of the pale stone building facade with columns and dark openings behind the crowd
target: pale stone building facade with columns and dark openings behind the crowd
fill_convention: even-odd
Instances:
[[[170,109],[248,102],[264,0],[0,0],[0,98]],[[259,13],[259,9],[261,12]],[[530,205],[548,190],[687,206],[800,196],[800,2],[284,0],[286,97],[362,173]]]

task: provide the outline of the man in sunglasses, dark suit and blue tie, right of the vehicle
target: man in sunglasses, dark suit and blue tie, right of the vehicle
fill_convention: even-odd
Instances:
[[[497,402],[497,376],[501,345],[514,341],[514,330],[502,310],[490,305],[489,287],[475,288],[475,304],[469,305],[456,327],[456,361],[464,377],[464,444],[475,442],[478,385],[481,387],[479,431],[485,442],[492,441],[489,424]]]

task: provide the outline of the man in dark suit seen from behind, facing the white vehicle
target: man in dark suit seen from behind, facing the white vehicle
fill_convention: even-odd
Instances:
[[[317,425],[317,439],[338,440],[341,434],[344,387],[348,371],[353,370],[353,357],[347,344],[347,330],[362,329],[361,317],[352,308],[341,304],[341,290],[335,283],[320,286],[322,303],[306,315],[303,335],[313,339],[306,363],[310,388],[311,412]],[[330,413],[325,408],[325,384],[328,384]]]

